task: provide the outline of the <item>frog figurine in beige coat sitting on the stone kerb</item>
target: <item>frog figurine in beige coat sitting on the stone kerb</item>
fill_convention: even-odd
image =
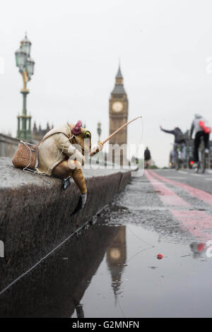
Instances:
[[[82,128],[82,122],[64,124],[49,131],[40,143],[38,151],[37,172],[63,179],[63,189],[70,184],[70,178],[78,186],[81,196],[73,213],[78,212],[86,204],[87,188],[82,167],[85,158],[90,154],[91,134]],[[102,150],[103,144],[98,143],[92,153]]]

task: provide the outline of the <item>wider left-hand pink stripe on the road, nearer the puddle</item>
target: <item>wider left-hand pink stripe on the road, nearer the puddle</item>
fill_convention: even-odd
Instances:
[[[185,208],[192,208],[192,206],[180,198],[174,191],[167,188],[162,182],[155,181],[155,177],[151,174],[152,171],[145,171],[145,175],[151,182],[153,188],[159,191],[160,200],[166,206],[184,206]],[[160,177],[163,179],[163,177]],[[207,215],[203,211],[190,211],[188,209],[175,210],[169,208],[172,215],[179,220],[182,225],[182,230],[188,230],[194,237],[201,239],[201,241],[206,241],[212,239],[212,234],[210,235],[209,230],[212,229],[212,216]]]

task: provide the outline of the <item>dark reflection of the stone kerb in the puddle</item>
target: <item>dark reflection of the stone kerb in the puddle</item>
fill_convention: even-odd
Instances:
[[[86,316],[81,299],[119,228],[93,225],[72,237],[1,295],[0,316]]]

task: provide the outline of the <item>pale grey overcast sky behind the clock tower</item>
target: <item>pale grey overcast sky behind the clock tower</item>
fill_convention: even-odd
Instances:
[[[194,113],[212,124],[211,0],[2,1],[0,11],[0,132],[16,135],[22,79],[14,52],[25,31],[35,75],[28,112],[42,127],[81,119],[97,141],[109,131],[109,97],[119,57],[129,98],[129,119],[143,116],[143,143],[160,167],[173,136],[189,129]],[[141,141],[141,121],[129,126],[129,143]]]

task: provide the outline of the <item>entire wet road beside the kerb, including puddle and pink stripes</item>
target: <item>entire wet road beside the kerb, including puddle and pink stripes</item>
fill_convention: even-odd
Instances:
[[[175,170],[132,178],[0,295],[0,316],[211,317],[211,181]]]

